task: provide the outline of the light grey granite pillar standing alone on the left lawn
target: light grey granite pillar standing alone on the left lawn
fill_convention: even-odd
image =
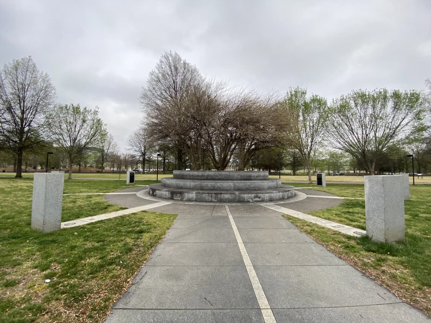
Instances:
[[[50,232],[61,227],[64,173],[35,173],[31,228]]]

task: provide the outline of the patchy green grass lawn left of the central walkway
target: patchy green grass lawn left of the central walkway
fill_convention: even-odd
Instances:
[[[126,187],[66,180],[64,191]],[[141,211],[40,233],[30,227],[31,194],[32,179],[0,179],[0,322],[100,322],[176,217]],[[99,195],[64,196],[62,221],[120,209]]]

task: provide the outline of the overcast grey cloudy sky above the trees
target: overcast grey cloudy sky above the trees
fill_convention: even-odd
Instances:
[[[31,55],[59,102],[99,106],[124,148],[163,50],[261,91],[307,87],[330,101],[359,88],[424,90],[431,1],[0,0],[0,65]]]

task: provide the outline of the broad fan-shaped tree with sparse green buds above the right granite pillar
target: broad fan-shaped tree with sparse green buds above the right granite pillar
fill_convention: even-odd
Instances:
[[[334,148],[357,158],[372,175],[388,147],[408,144],[425,129],[425,102],[416,91],[352,91],[334,99],[331,111]]]

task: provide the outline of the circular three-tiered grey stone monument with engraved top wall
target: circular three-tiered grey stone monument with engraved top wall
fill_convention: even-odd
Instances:
[[[266,171],[174,171],[148,186],[151,196],[198,202],[267,202],[295,195],[293,186],[269,179]]]

